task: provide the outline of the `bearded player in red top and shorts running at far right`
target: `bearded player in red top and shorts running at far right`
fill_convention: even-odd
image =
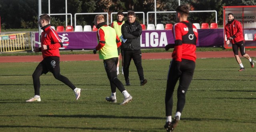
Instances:
[[[239,21],[234,20],[234,16],[232,13],[228,14],[228,23],[225,26],[225,32],[227,36],[226,44],[230,44],[230,42],[232,43],[232,49],[236,58],[236,62],[240,65],[240,70],[238,71],[245,70],[242,61],[238,56],[238,48],[240,48],[241,55],[244,58],[248,59],[251,64],[251,67],[254,68],[254,62],[252,58],[250,58],[250,56],[245,53],[244,34],[242,25]]]

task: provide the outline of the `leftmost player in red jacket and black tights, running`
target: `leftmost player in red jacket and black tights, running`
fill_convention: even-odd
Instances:
[[[41,101],[40,98],[40,76],[48,72],[52,72],[54,78],[60,80],[64,84],[68,85],[75,93],[76,100],[80,97],[80,88],[76,88],[68,78],[60,74],[60,52],[59,48],[62,47],[62,42],[58,37],[55,30],[51,28],[50,16],[48,14],[42,14],[39,16],[39,26],[44,31],[41,34],[41,48],[34,48],[34,52],[42,52],[43,60],[38,64],[34,71],[33,84],[35,90],[35,96],[26,102]]]

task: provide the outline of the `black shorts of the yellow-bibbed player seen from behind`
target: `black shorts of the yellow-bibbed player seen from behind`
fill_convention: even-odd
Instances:
[[[105,68],[106,72],[107,73],[117,72],[116,71],[117,62],[118,62],[118,57],[103,60],[104,68]]]

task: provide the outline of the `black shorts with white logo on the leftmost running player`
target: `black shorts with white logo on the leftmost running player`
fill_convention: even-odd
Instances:
[[[36,68],[42,68],[42,74],[46,74],[48,72],[56,73],[60,72],[60,57],[58,56],[50,56],[44,58],[42,62],[38,64]]]

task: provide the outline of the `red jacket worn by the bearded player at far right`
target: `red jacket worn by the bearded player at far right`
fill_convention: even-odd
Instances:
[[[232,36],[234,37],[234,39],[230,40],[232,44],[235,44],[237,42],[244,40],[242,25],[237,20],[234,20],[232,23],[227,23],[225,26],[225,32],[226,32],[227,39]]]

